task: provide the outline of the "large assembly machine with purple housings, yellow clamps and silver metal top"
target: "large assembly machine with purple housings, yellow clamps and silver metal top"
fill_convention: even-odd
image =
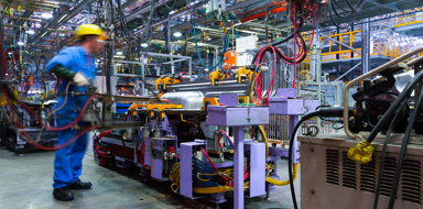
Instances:
[[[276,173],[276,161],[288,150],[269,147],[261,125],[269,123],[270,113],[292,116],[294,124],[318,101],[296,99],[289,88],[279,89],[269,106],[250,103],[252,74],[245,68],[238,77],[225,78],[217,70],[212,80],[191,82],[159,78],[160,102],[135,102],[124,116],[107,111],[111,101],[104,100],[102,130],[116,129],[113,118],[126,121],[119,127],[132,127],[94,136],[96,158],[101,165],[138,166],[141,176],[171,182],[174,193],[191,199],[208,196],[219,205],[234,190],[235,208],[242,208],[245,194],[269,197],[274,186],[289,184]],[[294,157],[296,173],[299,155]]]

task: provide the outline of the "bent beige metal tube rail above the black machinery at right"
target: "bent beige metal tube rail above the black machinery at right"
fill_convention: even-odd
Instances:
[[[413,50],[406,54],[403,54],[403,55],[375,68],[373,70],[370,70],[369,73],[367,73],[365,75],[357,77],[356,79],[349,81],[347,84],[347,86],[345,86],[345,88],[344,88],[344,131],[349,138],[351,138],[354,140],[356,139],[356,135],[352,134],[348,128],[348,125],[349,125],[349,121],[348,121],[348,119],[349,119],[348,118],[349,88],[351,88],[355,84],[358,84],[359,81],[361,81],[366,78],[369,78],[369,77],[371,77],[371,76],[373,76],[373,75],[376,75],[376,74],[378,74],[384,69],[388,69],[392,65],[395,65],[395,64],[398,64],[398,63],[400,63],[406,58],[410,58],[411,56],[416,55],[421,52],[423,52],[423,46],[416,47],[415,50]]]

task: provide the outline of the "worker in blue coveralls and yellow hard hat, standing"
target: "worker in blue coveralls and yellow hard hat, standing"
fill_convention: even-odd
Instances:
[[[56,112],[56,123],[58,127],[72,123],[79,114],[82,108],[88,100],[87,96],[82,96],[88,88],[88,80],[95,80],[97,70],[95,57],[102,47],[102,31],[95,24],[83,24],[76,29],[76,40],[79,46],[62,50],[53,57],[46,70],[55,74],[58,80],[57,106],[61,107],[65,100],[65,91],[68,82],[67,102]],[[74,92],[74,94],[73,94]],[[77,94],[75,94],[77,92]],[[84,127],[84,122],[78,122]],[[77,130],[67,129],[58,132],[58,144],[64,144],[77,134]],[[54,160],[54,190],[53,196],[58,200],[73,200],[74,195],[70,189],[89,189],[91,183],[79,179],[83,170],[83,157],[87,148],[87,133],[72,143],[69,146],[56,151]]]

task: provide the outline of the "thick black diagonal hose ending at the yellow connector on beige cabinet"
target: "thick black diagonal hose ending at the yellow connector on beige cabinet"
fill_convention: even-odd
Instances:
[[[393,101],[392,106],[388,109],[388,111],[383,114],[382,119],[376,124],[373,130],[370,132],[369,136],[367,136],[367,142],[371,143],[376,135],[384,128],[384,125],[391,121],[393,113],[397,111],[398,107],[401,102],[413,91],[414,86],[421,81],[423,78],[423,72],[419,72],[413,79],[406,85],[404,90],[398,96],[398,98]]]

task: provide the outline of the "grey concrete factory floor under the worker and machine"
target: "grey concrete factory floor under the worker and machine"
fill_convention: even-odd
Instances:
[[[80,178],[90,180],[93,188],[74,190],[73,201],[57,201],[52,195],[54,152],[39,151],[17,156],[0,146],[0,208],[193,208],[193,202],[174,194],[169,184],[153,180],[144,184],[137,170],[101,167],[94,161],[90,151],[84,157]],[[281,178],[288,179],[286,161],[279,161],[278,166]],[[295,180],[295,190],[300,202],[300,175]],[[231,195],[228,194],[228,201],[220,208],[234,208]],[[264,196],[246,198],[246,208],[293,208],[289,186],[278,187],[270,197],[271,200],[264,200]],[[214,208],[216,205],[208,206]]]

